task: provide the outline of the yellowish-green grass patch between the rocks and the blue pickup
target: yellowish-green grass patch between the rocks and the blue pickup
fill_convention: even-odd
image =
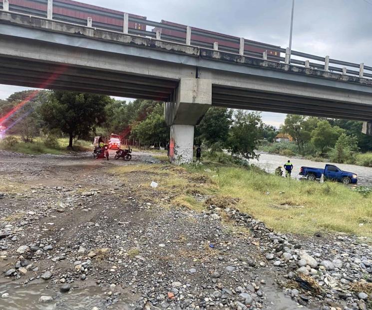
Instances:
[[[241,211],[276,231],[372,235],[371,197],[343,184],[297,181],[238,167],[202,171],[217,181],[220,195],[240,198]]]

